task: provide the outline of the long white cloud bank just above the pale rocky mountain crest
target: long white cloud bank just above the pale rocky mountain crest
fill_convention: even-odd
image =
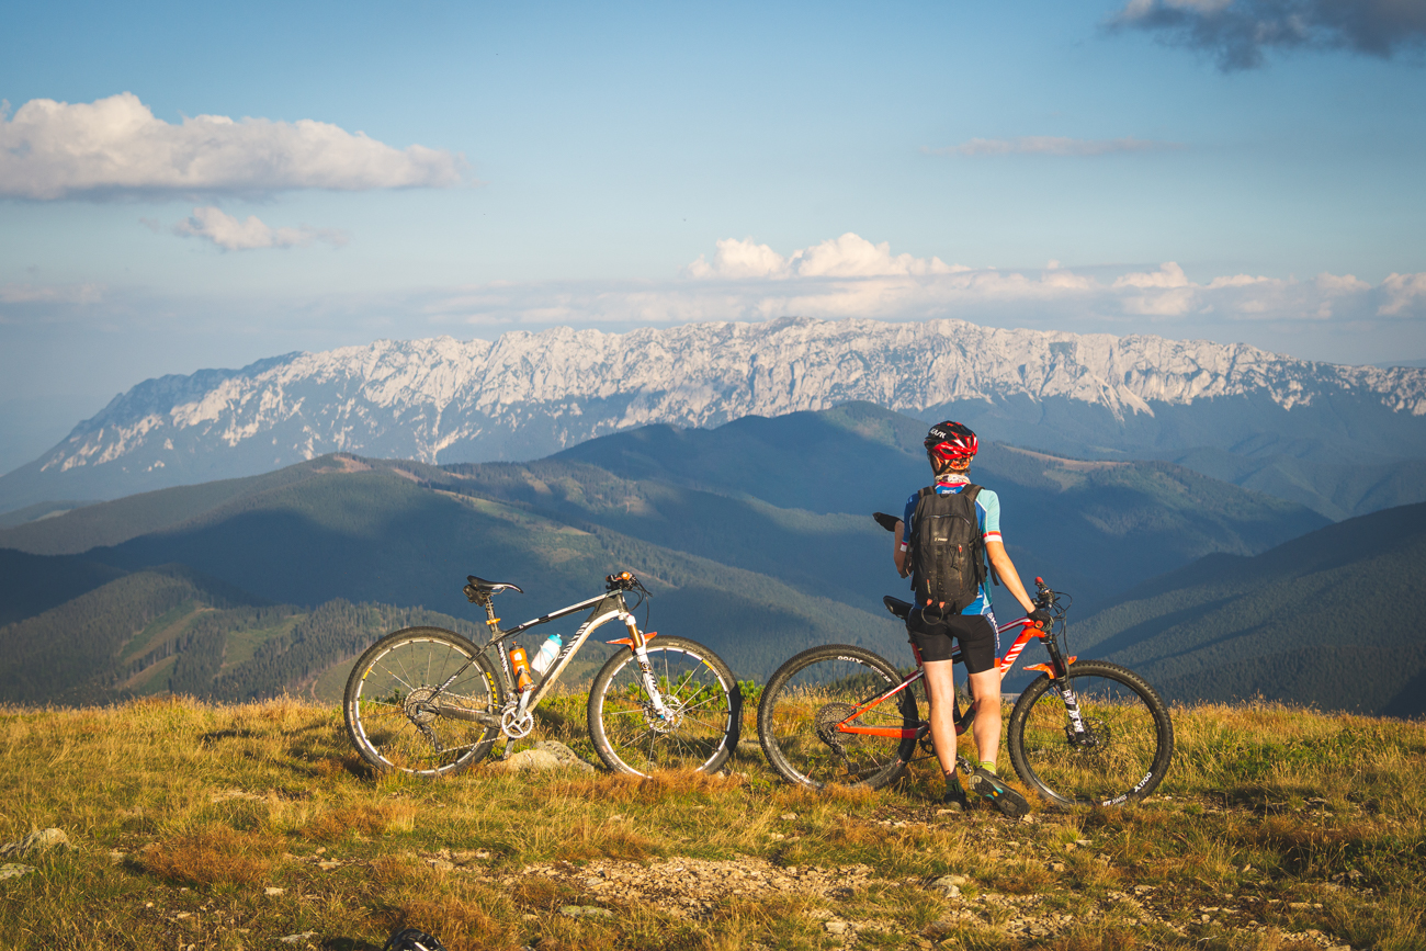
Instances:
[[[790,252],[754,238],[726,238],[674,281],[488,284],[435,294],[422,309],[436,322],[475,325],[960,317],[1002,327],[1144,328],[1195,336],[1211,325],[1281,329],[1383,315],[1426,318],[1426,274],[1392,275],[1372,285],[1350,274],[1195,279],[1174,261],[1142,269],[1077,269],[1051,261],[1041,269],[1002,271],[893,254],[888,242],[848,232]],[[1214,334],[1238,338],[1241,331]]]

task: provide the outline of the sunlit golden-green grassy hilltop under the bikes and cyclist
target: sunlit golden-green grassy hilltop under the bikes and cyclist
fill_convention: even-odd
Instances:
[[[925,764],[868,796],[791,790],[747,744],[729,777],[486,763],[414,781],[369,776],[339,713],[295,700],[0,707],[0,841],[58,827],[74,845],[0,881],[0,935],[375,951],[409,922],[452,951],[1426,948],[1420,724],[1281,706],[1175,724],[1149,801],[1008,823],[938,814]],[[590,756],[583,697],[536,736]]]

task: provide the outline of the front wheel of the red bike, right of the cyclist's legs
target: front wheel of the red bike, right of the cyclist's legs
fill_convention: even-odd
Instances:
[[[1020,694],[1005,731],[1020,778],[1061,806],[1118,806],[1152,793],[1174,757],[1174,723],[1154,687],[1102,660],[1071,664],[1068,687],[1087,727],[1082,736],[1050,677]]]

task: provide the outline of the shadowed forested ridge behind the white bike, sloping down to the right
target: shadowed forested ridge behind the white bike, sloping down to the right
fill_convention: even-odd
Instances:
[[[595,525],[586,529],[438,492],[389,471],[334,472],[245,496],[90,557],[128,570],[181,562],[278,602],[422,605],[466,617],[475,609],[461,586],[466,573],[478,573],[529,592],[502,597],[509,620],[589,597],[602,590],[605,575],[632,567],[657,593],[656,629],[704,640],[749,674],[780,663],[787,656],[781,643],[863,642],[894,629],[883,613]],[[576,624],[568,622],[566,633]]]

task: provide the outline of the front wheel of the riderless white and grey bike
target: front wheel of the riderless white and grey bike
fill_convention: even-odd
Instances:
[[[605,766],[649,776],[655,770],[714,773],[737,746],[743,694],[733,672],[703,644],[682,637],[649,642],[660,716],[635,653],[620,650],[589,689],[589,737]]]

